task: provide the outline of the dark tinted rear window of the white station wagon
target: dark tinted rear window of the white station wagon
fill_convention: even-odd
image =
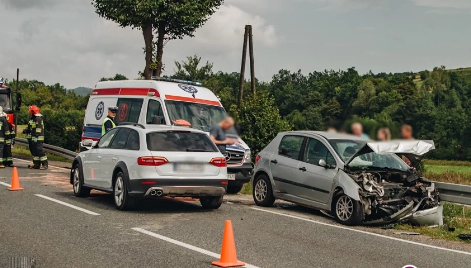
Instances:
[[[154,132],[146,135],[147,148],[166,152],[218,152],[207,134],[192,132]]]

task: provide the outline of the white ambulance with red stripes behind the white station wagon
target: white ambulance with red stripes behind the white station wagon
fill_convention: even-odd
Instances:
[[[211,127],[227,115],[218,97],[199,82],[164,77],[98,82],[90,94],[81,140],[92,139],[95,144],[100,139],[102,123],[110,106],[118,106],[116,125],[177,125],[187,121],[192,128],[208,134]],[[228,136],[238,141],[227,145],[225,155],[229,180],[227,192],[235,194],[250,181],[253,167],[250,148],[234,128],[228,131]],[[79,147],[81,151],[91,148],[83,146],[81,141]]]

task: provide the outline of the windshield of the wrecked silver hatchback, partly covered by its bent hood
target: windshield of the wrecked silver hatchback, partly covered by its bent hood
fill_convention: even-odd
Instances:
[[[330,139],[329,143],[344,162],[350,160],[366,142],[348,139]],[[363,150],[362,150],[363,151]],[[358,169],[397,169],[409,171],[409,166],[396,154],[377,154],[375,152],[362,153],[349,163],[349,167]]]

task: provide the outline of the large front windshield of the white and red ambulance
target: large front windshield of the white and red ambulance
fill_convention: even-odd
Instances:
[[[219,124],[226,116],[221,106],[171,100],[166,100],[165,106],[171,121],[186,120],[192,127],[205,132],[209,132],[212,126]],[[234,128],[228,134],[237,135]]]

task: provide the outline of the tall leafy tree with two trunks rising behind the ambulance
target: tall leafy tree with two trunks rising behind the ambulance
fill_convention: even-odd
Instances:
[[[224,0],[92,0],[96,13],[121,27],[142,31],[145,43],[144,78],[161,75],[162,55],[166,40],[193,37],[223,4]],[[157,34],[155,69],[151,70],[154,32]]]

